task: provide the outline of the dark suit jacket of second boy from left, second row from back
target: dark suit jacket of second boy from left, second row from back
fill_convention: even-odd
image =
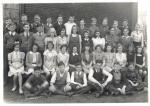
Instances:
[[[24,53],[27,53],[29,50],[31,50],[32,45],[33,45],[33,33],[23,32],[19,36],[20,36],[19,38],[20,50]]]

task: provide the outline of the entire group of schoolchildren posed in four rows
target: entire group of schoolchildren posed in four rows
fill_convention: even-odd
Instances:
[[[74,18],[64,23],[59,15],[57,22],[49,17],[43,24],[35,15],[29,23],[23,14],[19,24],[5,20],[4,74],[9,66],[12,91],[17,78],[19,93],[26,97],[91,92],[100,97],[143,90],[148,72],[140,25],[131,31],[125,19],[121,27],[117,20],[110,27],[105,17],[98,26],[93,17],[87,27],[84,19],[77,25]]]

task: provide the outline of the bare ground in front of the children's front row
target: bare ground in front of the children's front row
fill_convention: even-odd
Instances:
[[[148,92],[142,91],[132,96],[102,96],[95,98],[94,95],[75,95],[72,97],[52,95],[51,97],[41,97],[37,99],[25,99],[19,95],[18,89],[11,92],[12,85],[4,87],[4,101],[6,103],[126,103],[126,102],[148,102]]]

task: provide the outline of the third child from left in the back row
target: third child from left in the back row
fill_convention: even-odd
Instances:
[[[34,22],[31,24],[31,32],[36,33],[37,27],[39,25],[44,26],[43,23],[41,22],[41,17],[38,14],[36,14],[34,15]]]

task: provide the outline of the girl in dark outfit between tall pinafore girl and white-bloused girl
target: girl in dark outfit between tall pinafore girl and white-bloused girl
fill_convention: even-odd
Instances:
[[[83,34],[83,38],[82,38],[82,48],[85,48],[85,45],[89,45],[91,51],[93,50],[93,41],[92,39],[89,37],[89,31],[84,31]],[[83,49],[82,49],[83,51]]]

